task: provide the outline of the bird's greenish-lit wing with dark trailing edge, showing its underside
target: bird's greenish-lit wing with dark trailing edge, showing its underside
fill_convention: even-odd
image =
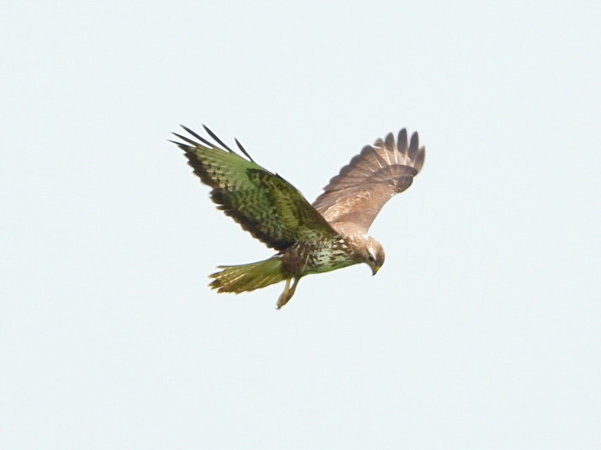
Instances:
[[[204,125],[203,125],[204,126]],[[336,238],[338,233],[289,182],[255,163],[236,140],[241,157],[225,145],[209,128],[207,133],[219,148],[189,128],[199,142],[173,133],[185,152],[188,164],[204,184],[213,188],[211,198],[254,238],[268,247],[284,250],[296,242],[315,242]]]

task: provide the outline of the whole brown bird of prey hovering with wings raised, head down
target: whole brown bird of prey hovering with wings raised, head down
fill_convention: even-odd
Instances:
[[[313,204],[277,173],[259,166],[236,139],[243,155],[234,152],[215,134],[204,130],[221,147],[191,129],[191,137],[175,134],[188,164],[204,184],[218,208],[254,238],[278,253],[269,259],[236,266],[219,266],[210,275],[218,292],[240,293],[285,281],[276,308],[294,295],[305,275],[366,263],[373,275],[384,263],[382,245],[367,231],[382,206],[406,190],[424,164],[426,149],[418,134],[407,145],[407,131],[377,139],[356,155],[323,188]]]

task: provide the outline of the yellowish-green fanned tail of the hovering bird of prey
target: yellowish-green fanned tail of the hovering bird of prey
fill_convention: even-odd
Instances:
[[[282,274],[282,260],[279,257],[237,266],[219,266],[219,268],[223,270],[209,275],[215,278],[209,286],[217,289],[218,292],[240,293],[285,280]]]

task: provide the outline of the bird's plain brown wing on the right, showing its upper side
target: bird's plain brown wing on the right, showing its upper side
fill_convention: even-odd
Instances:
[[[397,142],[389,133],[365,146],[323,188],[313,206],[340,233],[367,234],[382,206],[394,194],[406,190],[424,164],[426,148],[419,147],[417,133],[407,146],[407,130]]]

